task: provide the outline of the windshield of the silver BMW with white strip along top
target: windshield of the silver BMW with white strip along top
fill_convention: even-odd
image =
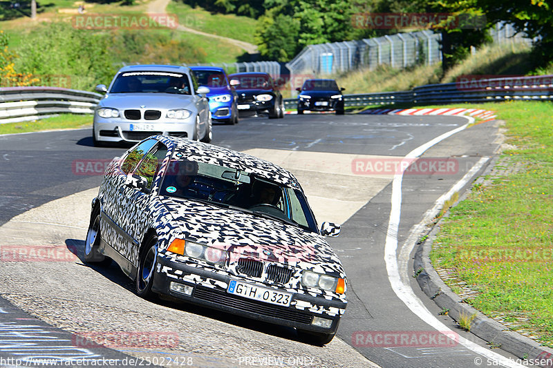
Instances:
[[[124,72],[113,82],[110,93],[178,93],[190,95],[186,75],[172,72]]]

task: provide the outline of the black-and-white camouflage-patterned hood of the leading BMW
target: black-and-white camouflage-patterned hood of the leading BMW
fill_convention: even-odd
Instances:
[[[303,269],[324,264],[327,269],[343,272],[336,253],[319,234],[192,200],[160,197],[160,201],[190,240],[234,252],[233,256],[249,255]]]

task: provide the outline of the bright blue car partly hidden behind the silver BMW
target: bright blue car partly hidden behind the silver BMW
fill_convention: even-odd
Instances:
[[[209,88],[207,98],[213,121],[238,124],[238,95],[229,86],[225,70],[215,66],[191,66],[190,69],[198,84]]]

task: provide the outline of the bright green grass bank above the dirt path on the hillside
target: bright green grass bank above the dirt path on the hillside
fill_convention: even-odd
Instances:
[[[178,1],[171,1],[167,6],[167,12],[177,14],[178,23],[182,26],[213,35],[255,43],[256,19],[235,14],[214,14],[203,8],[191,8],[191,6]]]

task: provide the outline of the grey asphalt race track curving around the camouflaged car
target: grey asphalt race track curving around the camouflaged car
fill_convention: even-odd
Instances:
[[[73,351],[75,357],[154,357],[154,365],[167,367],[175,359],[196,367],[516,367],[503,358],[509,354],[489,349],[440,316],[411,277],[413,226],[469,170],[481,175],[498,146],[496,122],[462,128],[467,122],[309,114],[214,126],[213,144],[288,168],[319,224],[342,223],[341,235],[328,241],[348,275],[348,308],[339,338],[325,347],[299,341],[292,329],[186,304],[147,302],[135,296],[115,264],[83,264],[73,253],[82,255],[102,165],[124,148],[94,148],[91,129],[0,136],[0,358],[81,349]],[[409,154],[422,154],[418,166],[395,175],[394,165]],[[429,173],[429,167],[438,172]],[[465,177],[465,188],[474,177]],[[49,247],[64,259],[23,262],[8,256],[28,246]],[[25,329],[30,331],[22,334]],[[165,333],[174,341],[113,349],[76,343],[106,331]],[[394,342],[400,332],[409,340]],[[4,343],[2,336],[25,344]]]

